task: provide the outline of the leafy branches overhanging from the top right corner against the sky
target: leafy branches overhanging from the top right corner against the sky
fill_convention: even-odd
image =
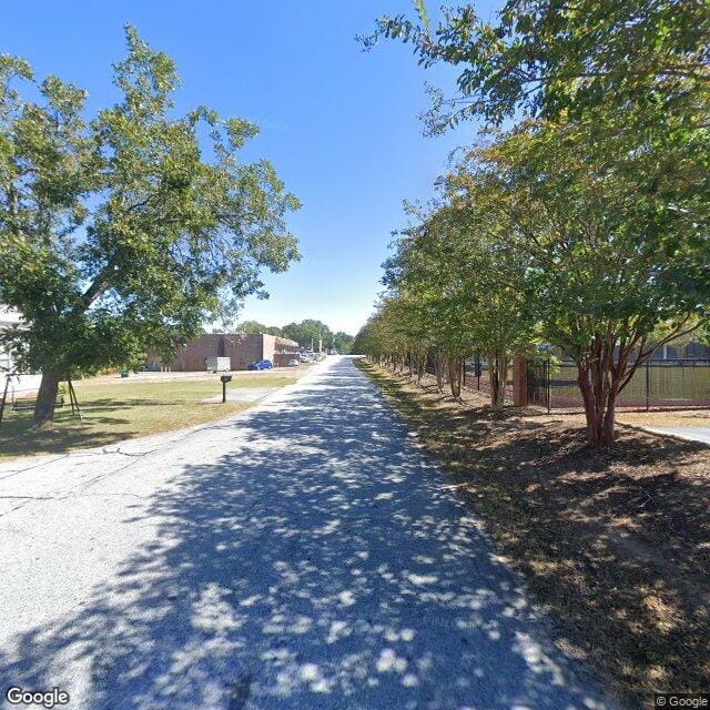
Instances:
[[[457,95],[433,92],[434,130],[467,118],[582,116],[602,104],[622,109],[627,126],[639,119],[638,129],[650,105],[687,116],[710,82],[704,0],[508,0],[491,21],[462,3],[442,8],[436,23],[424,0],[413,4],[414,18],[383,17],[363,41],[398,39],[419,64],[459,70]]]

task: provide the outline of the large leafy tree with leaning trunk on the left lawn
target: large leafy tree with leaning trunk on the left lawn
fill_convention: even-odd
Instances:
[[[284,223],[297,200],[268,162],[240,160],[257,128],[175,115],[173,62],[132,27],[126,41],[120,99],[92,120],[84,91],[0,58],[0,301],[27,326],[3,339],[42,372],[37,425],[68,374],[170,355],[260,292],[262,267],[298,257]]]

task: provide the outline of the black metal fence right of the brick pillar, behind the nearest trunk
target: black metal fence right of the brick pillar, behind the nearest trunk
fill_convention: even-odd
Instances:
[[[581,409],[577,366],[548,359],[527,361],[528,404],[551,409]],[[647,361],[617,399],[618,408],[710,407],[710,359]]]

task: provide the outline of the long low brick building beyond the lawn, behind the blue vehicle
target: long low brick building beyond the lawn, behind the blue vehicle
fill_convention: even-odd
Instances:
[[[171,372],[202,372],[207,357],[229,357],[232,369],[246,369],[250,363],[270,359],[275,367],[285,367],[298,353],[298,343],[265,333],[205,333],[196,341],[180,347],[169,363],[149,353],[148,369]]]

